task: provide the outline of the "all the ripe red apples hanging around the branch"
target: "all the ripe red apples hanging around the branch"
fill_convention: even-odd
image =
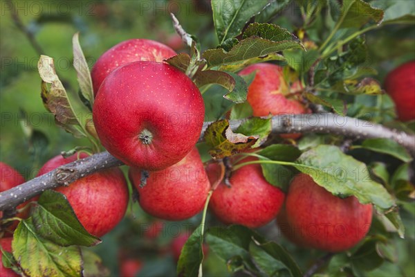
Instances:
[[[277,218],[279,229],[295,244],[330,252],[350,249],[365,237],[371,225],[371,204],[360,204],[356,197],[336,197],[308,175],[296,175],[284,193],[266,181],[259,163],[249,163],[257,161],[255,157],[231,157],[233,166],[249,164],[234,170],[229,182],[223,180],[219,163],[205,168],[195,147],[205,116],[203,98],[185,73],[165,62],[174,55],[172,48],[159,42],[130,39],[104,53],[91,71],[96,132],[104,148],[129,166],[128,176],[144,211],[163,220],[186,220],[202,211],[211,184],[219,184],[210,210],[225,224],[257,228]],[[253,116],[311,112],[298,93],[303,84],[286,82],[282,67],[253,64],[239,75],[254,72],[247,97]],[[386,79],[401,120],[415,118],[414,72],[415,62],[409,62]],[[282,135],[285,139],[299,136]],[[59,155],[46,162],[38,175],[84,157],[84,153]],[[0,170],[0,191],[24,183],[10,166],[0,163]],[[95,172],[56,190],[66,195],[85,229],[98,237],[122,220],[129,201],[127,180],[119,168]],[[18,217],[27,217],[27,203],[17,207],[22,211]],[[8,226],[6,236],[16,226]],[[10,250],[9,240],[1,240],[6,250]],[[185,240],[174,243],[176,259]],[[129,267],[136,271],[140,265],[131,262],[125,267],[125,271]]]

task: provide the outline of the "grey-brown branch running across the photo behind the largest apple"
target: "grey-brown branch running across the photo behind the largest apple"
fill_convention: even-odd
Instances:
[[[201,137],[212,122],[203,124]],[[243,120],[230,120],[230,127],[237,129]],[[324,133],[346,136],[352,140],[385,138],[403,145],[415,157],[415,136],[389,129],[382,125],[357,118],[337,116],[335,114],[295,114],[273,116],[273,133]],[[68,186],[77,179],[91,175],[99,170],[122,166],[122,162],[108,152],[94,154],[85,159],[74,161],[61,166],[46,175],[31,179],[10,190],[0,193],[0,211],[4,211],[21,204],[44,190]]]

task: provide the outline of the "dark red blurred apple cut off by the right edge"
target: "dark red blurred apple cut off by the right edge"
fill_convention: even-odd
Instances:
[[[415,119],[415,61],[389,72],[385,89],[395,102],[399,120]]]

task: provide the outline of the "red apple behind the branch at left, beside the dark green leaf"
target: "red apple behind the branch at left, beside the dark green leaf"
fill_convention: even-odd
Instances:
[[[80,155],[81,158],[86,156]],[[38,176],[76,159],[77,154],[66,159],[58,155],[44,164]],[[66,196],[86,231],[98,237],[111,231],[127,211],[127,181],[120,168],[96,172],[56,190]]]

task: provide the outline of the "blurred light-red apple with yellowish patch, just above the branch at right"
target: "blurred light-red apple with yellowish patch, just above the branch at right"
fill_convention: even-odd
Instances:
[[[247,100],[252,107],[254,116],[268,116],[269,114],[308,114],[309,111],[301,102],[286,98],[290,88],[282,67],[275,64],[259,63],[247,66],[239,75],[248,75],[257,71],[255,78],[248,87]],[[293,89],[297,91],[299,84]],[[294,91],[293,91],[294,92]],[[297,139],[300,134],[283,134],[286,139]]]

